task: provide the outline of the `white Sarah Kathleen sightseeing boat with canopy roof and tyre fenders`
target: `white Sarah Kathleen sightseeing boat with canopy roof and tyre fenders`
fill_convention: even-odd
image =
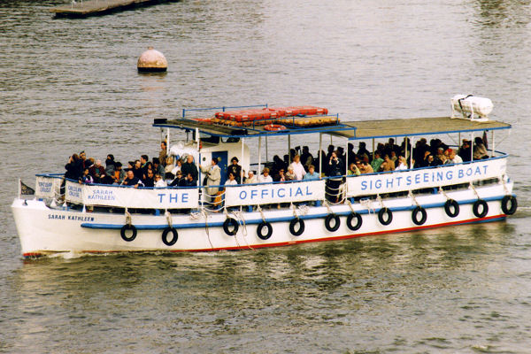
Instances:
[[[197,165],[217,158],[222,171],[233,156],[243,170],[262,171],[270,165],[263,148],[287,141],[289,150],[294,135],[319,143],[319,151],[328,136],[345,150],[349,142],[374,150],[376,142],[403,137],[411,167],[415,139],[446,137],[458,149],[462,138],[489,136],[490,149],[479,160],[381,173],[348,175],[345,164],[333,177],[320,173],[327,161],[319,158],[314,181],[223,185],[221,173],[215,196],[212,186],[132,188],[40,173],[35,196],[19,190],[12,204],[22,254],[249,250],[503,220],[517,201],[508,155],[495,142],[511,125],[489,119],[492,105],[481,97],[456,96],[451,106],[450,117],[416,119],[344,121],[312,106],[183,110],[179,119],[155,119],[169,155],[191,155]],[[208,110],[208,118],[190,116]]]

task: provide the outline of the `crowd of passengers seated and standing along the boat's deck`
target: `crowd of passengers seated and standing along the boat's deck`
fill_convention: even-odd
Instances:
[[[401,145],[396,145],[393,138],[387,143],[378,143],[376,150],[371,153],[366,149],[366,143],[360,142],[358,151],[349,143],[348,151],[342,147],[329,145],[327,152],[321,150],[314,157],[307,146],[291,149],[289,155],[280,158],[273,157],[273,162],[267,163],[258,176],[254,171],[246,173],[238,165],[238,158],[231,159],[227,165],[226,185],[242,183],[266,183],[273,181],[312,181],[321,176],[335,177],[359,175],[362,173],[388,172],[407,170],[427,166],[458,164],[472,159],[489,158],[487,148],[481,137],[476,137],[474,143],[464,139],[459,149],[453,150],[439,139],[432,139],[429,144],[422,138],[416,142],[410,157],[411,145],[408,138],[404,138]],[[79,155],[73,154],[65,165],[65,178],[80,183],[119,184],[137,187],[195,187],[199,171],[194,158],[188,155],[184,158],[174,158],[166,155],[166,144],[161,142],[158,158],[151,160],[142,155],[135,161],[129,161],[124,167],[115,161],[112,154],[107,155],[104,164],[101,160],[87,158],[84,151]],[[319,162],[319,159],[321,160]],[[412,165],[410,165],[412,162]],[[207,186],[208,194],[215,194],[221,181],[221,170],[217,158],[212,158],[210,165],[200,165],[204,173],[203,185]],[[319,171],[319,166],[322,172]],[[348,166],[348,169],[347,169]],[[331,181],[334,181],[332,179]],[[335,184],[335,183],[332,183]]]

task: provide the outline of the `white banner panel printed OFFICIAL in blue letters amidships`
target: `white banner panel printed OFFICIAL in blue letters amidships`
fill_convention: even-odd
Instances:
[[[225,205],[257,205],[323,200],[325,181],[299,181],[227,187]]]

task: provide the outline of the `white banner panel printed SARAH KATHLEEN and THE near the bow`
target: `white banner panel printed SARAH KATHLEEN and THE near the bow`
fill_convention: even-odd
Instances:
[[[199,205],[198,189],[135,189],[66,181],[65,200],[76,204],[142,209],[189,209]]]

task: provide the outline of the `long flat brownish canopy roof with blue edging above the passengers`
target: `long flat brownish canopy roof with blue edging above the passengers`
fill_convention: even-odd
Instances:
[[[284,130],[268,131],[264,126],[226,127],[196,119],[155,119],[153,127],[177,128],[196,131],[219,137],[259,137],[277,135],[327,134],[349,140],[367,138],[385,138],[413,135],[441,135],[484,130],[510,129],[511,125],[497,121],[473,121],[471,119],[452,119],[450,117],[381,119],[342,121],[335,125],[322,127],[288,127]]]

